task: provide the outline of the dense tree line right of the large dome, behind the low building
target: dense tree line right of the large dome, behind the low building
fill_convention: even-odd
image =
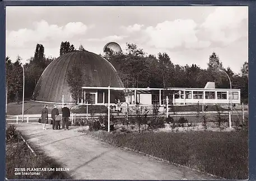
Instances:
[[[136,44],[128,44],[125,53],[105,51],[108,61],[115,67],[124,87],[137,88],[204,88],[207,82],[215,82],[216,88],[241,89],[241,101],[248,102],[248,62],[244,62],[240,73],[230,67],[224,68],[219,56],[209,56],[207,68],[196,64],[181,66],[174,64],[166,53],[147,55]]]

